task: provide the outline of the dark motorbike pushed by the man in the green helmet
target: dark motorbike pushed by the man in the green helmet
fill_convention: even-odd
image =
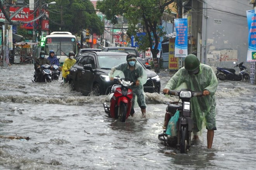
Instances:
[[[176,132],[175,136],[170,136],[166,134],[166,130],[163,133],[158,135],[158,139],[163,141],[164,144],[168,144],[169,146],[173,146],[176,144],[180,153],[186,153],[187,150],[190,150],[191,146],[191,132],[193,127],[193,121],[191,118],[191,107],[190,107],[190,98],[195,96],[202,96],[202,92],[198,91],[191,91],[189,89],[181,89],[180,91],[177,90],[170,90],[169,93],[173,96],[178,96],[182,102],[173,102],[168,104],[166,108],[166,114],[164,118],[164,126],[166,129],[170,128],[168,122],[171,117],[176,116],[175,113],[178,115],[178,120],[176,122]],[[172,129],[175,128],[175,124],[173,125]]]

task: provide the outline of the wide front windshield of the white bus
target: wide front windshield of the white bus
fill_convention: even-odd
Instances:
[[[76,54],[76,39],[71,37],[49,37],[45,39],[45,53],[54,50],[56,55],[68,55],[70,51]]]

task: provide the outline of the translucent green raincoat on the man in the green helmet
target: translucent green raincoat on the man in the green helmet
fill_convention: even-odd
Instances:
[[[190,75],[185,67],[182,67],[171,77],[165,88],[173,90],[183,82],[192,91],[208,90],[210,92],[208,96],[193,97],[190,100],[194,122],[193,131],[201,131],[203,122],[208,130],[216,130],[216,101],[214,94],[217,90],[218,80],[213,69],[208,65],[200,64],[199,73]]]

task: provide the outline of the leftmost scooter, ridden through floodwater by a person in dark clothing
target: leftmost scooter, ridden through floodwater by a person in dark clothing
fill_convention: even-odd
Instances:
[[[43,64],[40,66],[41,69],[41,74],[43,74],[43,80],[38,80],[38,73],[35,71],[34,72],[34,79],[32,79],[32,82],[52,82],[52,71],[51,65],[48,64]],[[39,78],[40,79],[40,78]],[[38,80],[38,81],[36,81]]]

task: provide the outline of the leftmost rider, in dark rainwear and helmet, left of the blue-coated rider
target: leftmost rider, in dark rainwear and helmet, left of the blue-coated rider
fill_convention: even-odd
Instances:
[[[34,67],[35,67],[36,74],[34,75],[34,79],[32,79],[33,82],[43,81],[43,73],[42,73],[42,70],[40,69],[40,66],[43,64],[50,65],[50,61],[45,58],[45,52],[41,51],[40,57],[35,59]]]

